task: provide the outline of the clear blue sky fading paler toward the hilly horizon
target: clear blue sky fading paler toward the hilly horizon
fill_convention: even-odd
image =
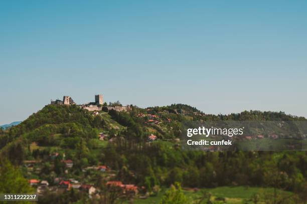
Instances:
[[[50,99],[307,116],[307,1],[2,1],[0,124]]]

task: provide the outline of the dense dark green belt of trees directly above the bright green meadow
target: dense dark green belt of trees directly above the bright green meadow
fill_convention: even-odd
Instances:
[[[306,152],[202,152],[171,148],[164,142],[144,144],[142,149],[110,145],[105,162],[133,172],[127,179],[150,187],[175,182],[186,187],[224,185],[273,186],[299,191],[306,185]],[[129,174],[127,174],[129,175]]]

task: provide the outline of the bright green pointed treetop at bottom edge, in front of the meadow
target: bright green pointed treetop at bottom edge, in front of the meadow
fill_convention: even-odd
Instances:
[[[186,204],[191,203],[187,196],[182,192],[180,183],[176,182],[163,195],[160,204]]]

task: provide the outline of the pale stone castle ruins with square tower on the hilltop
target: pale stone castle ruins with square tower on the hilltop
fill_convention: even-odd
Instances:
[[[55,101],[51,100],[51,103],[53,105],[73,105],[76,104],[74,100],[70,96],[64,96],[63,101],[57,99]],[[95,95],[95,102],[89,102],[86,104],[77,105],[81,109],[86,109],[88,111],[102,111],[102,105],[103,105],[103,96],[102,94]],[[130,111],[130,106],[107,106],[108,110],[116,110],[116,111]]]

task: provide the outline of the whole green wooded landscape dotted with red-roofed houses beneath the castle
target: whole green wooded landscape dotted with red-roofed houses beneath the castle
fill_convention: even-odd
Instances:
[[[102,110],[46,105],[0,129],[0,192],[40,189],[39,203],[307,202],[305,151],[189,151],[180,143],[184,122],[303,117],[211,115],[184,104]]]

